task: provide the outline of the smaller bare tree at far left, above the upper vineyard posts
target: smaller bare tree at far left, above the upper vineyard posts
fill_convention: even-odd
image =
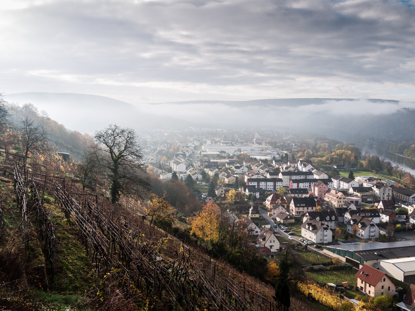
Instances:
[[[29,152],[43,150],[47,146],[49,142],[48,133],[41,124],[35,126],[34,121],[26,116],[20,119],[20,126],[17,143],[23,147],[25,158],[27,158]]]

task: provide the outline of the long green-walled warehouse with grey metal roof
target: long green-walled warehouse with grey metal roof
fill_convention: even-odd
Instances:
[[[348,262],[356,268],[365,264],[373,267],[381,260],[415,257],[415,240],[327,245],[324,247],[324,253]]]

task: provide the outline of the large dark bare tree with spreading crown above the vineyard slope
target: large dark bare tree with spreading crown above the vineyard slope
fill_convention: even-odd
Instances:
[[[98,157],[102,177],[110,183],[113,203],[118,202],[121,194],[142,197],[143,192],[150,190],[142,148],[133,129],[111,124],[95,132],[94,140],[96,146],[92,149]]]

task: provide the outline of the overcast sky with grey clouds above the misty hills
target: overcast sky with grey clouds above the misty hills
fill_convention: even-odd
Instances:
[[[415,99],[415,1],[2,0],[0,91]]]

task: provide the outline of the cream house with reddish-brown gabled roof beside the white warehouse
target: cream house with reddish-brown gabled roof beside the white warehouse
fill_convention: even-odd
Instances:
[[[361,292],[369,297],[396,294],[396,284],[392,279],[385,272],[374,267],[363,265],[354,276],[357,277],[357,286]]]

